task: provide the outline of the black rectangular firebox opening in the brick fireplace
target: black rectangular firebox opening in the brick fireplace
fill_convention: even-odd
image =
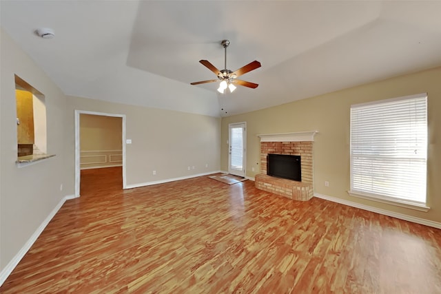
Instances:
[[[302,168],[300,164],[300,156],[268,154],[267,175],[301,182]]]

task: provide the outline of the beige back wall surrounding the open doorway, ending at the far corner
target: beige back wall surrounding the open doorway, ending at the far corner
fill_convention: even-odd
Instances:
[[[74,152],[74,110],[126,116],[125,137],[132,140],[125,150],[128,186],[205,174],[220,168],[220,118],[68,96],[66,133],[72,135],[68,154]],[[69,187],[74,184],[74,158],[71,159],[67,162],[72,173]]]

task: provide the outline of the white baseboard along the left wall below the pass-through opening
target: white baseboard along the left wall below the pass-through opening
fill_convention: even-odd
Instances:
[[[76,198],[73,195],[64,196],[60,202],[58,202],[57,206],[52,209],[52,211],[49,213],[49,216],[43,220],[43,222],[40,224],[40,226],[37,228],[36,231],[30,236],[28,242],[26,242],[23,247],[21,247],[20,251],[12,258],[12,260],[5,266],[3,270],[0,272],[0,286],[6,281],[6,279],[9,277],[9,275],[14,271],[15,266],[19,264],[20,260],[23,258],[23,256],[28,252],[32,244],[39,238],[39,235],[43,232],[45,227],[49,224],[50,220],[57,214],[59,209],[63,206],[64,202],[66,200],[74,199]]]

